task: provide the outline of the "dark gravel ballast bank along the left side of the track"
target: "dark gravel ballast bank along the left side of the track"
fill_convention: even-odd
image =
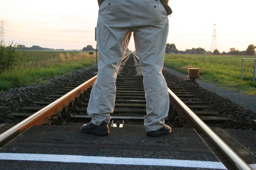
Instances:
[[[0,123],[17,123],[20,120],[11,116],[12,113],[22,113],[23,107],[37,106],[33,102],[43,101],[53,92],[70,86],[78,81],[87,81],[96,76],[97,68],[86,68],[70,72],[67,76],[49,79],[46,84],[38,83],[33,86],[9,89],[0,94]]]

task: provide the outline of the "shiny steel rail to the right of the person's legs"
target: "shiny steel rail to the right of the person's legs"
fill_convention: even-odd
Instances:
[[[232,163],[235,169],[253,169],[238,156],[223,140],[219,138],[176,94],[168,88],[170,102],[188,121],[196,132],[203,133],[211,143]]]

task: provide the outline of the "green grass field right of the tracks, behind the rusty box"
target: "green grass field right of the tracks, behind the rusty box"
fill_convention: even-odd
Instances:
[[[254,61],[244,60],[243,80],[241,80],[242,58],[255,56],[215,56],[166,54],[166,67],[188,74],[189,68],[199,68],[201,80],[245,94],[256,95],[256,83],[253,83]]]

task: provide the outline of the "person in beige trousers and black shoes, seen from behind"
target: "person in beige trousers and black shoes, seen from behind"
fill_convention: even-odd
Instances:
[[[114,112],[115,81],[131,33],[140,57],[146,97],[144,126],[147,136],[171,133],[164,118],[169,112],[169,94],[162,74],[168,37],[169,0],[98,0],[98,76],[93,84],[87,113],[92,120],[81,127],[83,133],[109,134],[110,113]]]

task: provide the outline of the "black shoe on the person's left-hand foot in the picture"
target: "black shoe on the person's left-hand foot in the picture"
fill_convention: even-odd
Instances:
[[[102,122],[100,126],[96,126],[93,123],[83,124],[81,127],[83,133],[91,133],[97,136],[107,136],[109,135],[109,124],[107,122]]]

